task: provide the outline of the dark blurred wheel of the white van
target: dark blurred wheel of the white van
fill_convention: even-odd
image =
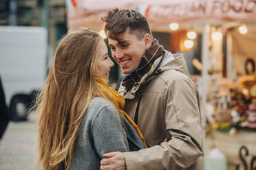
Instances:
[[[15,95],[10,102],[10,119],[12,121],[26,121],[29,99],[27,95]]]

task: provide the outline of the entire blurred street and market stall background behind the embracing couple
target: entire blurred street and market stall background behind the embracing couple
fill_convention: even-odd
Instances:
[[[113,8],[144,15],[165,49],[183,53],[200,90],[204,169],[256,169],[256,1],[0,0],[0,169],[36,168],[36,119],[28,110],[58,40],[96,29]],[[109,53],[111,56],[111,53]],[[110,85],[122,77],[117,64]]]

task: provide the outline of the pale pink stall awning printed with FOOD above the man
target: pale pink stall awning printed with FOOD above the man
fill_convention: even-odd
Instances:
[[[101,16],[113,8],[134,9],[150,24],[255,22],[256,0],[66,0],[67,26],[102,27]],[[71,3],[70,3],[71,2]]]

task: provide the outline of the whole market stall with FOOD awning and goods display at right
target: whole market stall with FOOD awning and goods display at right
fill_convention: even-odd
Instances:
[[[217,146],[231,169],[239,169],[239,166],[255,169],[256,1],[66,2],[69,28],[102,29],[100,17],[105,16],[108,10],[128,8],[141,12],[153,30],[165,32],[170,23],[179,23],[182,29],[189,31],[192,28],[202,34],[202,83],[198,84],[202,87],[202,126],[206,131],[211,129],[204,137],[204,149],[207,153],[211,145]],[[240,27],[243,33],[239,32]],[[243,155],[246,149],[248,156]]]

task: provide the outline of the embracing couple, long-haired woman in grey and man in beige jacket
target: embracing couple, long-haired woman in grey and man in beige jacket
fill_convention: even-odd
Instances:
[[[97,32],[59,42],[38,98],[43,169],[203,169],[198,90],[182,54],[164,50],[139,12],[103,21],[126,76],[119,93],[107,86],[114,64]]]

